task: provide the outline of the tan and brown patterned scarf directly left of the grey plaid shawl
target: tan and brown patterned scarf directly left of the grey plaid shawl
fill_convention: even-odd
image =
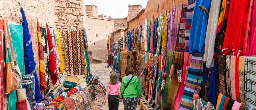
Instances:
[[[239,57],[239,65],[238,65],[238,72],[239,72],[239,93],[240,93],[240,100],[243,105],[245,103],[245,94],[244,94],[244,68],[245,68],[245,56]]]

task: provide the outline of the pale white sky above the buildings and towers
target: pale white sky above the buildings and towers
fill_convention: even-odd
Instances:
[[[86,5],[96,5],[98,14],[104,14],[106,17],[125,18],[128,15],[128,5],[140,4],[145,8],[148,0],[86,0]]]

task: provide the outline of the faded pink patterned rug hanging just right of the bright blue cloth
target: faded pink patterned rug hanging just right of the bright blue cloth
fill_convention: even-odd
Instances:
[[[34,52],[34,59],[35,59],[35,69],[37,71],[38,81],[40,81],[40,72],[39,72],[39,58],[38,58],[38,37],[37,37],[37,17],[31,14],[29,11],[24,10],[27,22],[29,24],[29,34],[30,39],[32,41],[32,49]]]

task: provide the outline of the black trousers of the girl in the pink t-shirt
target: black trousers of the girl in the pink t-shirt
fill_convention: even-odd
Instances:
[[[109,110],[118,110],[118,102],[119,102],[118,95],[109,94],[108,102],[109,102]]]

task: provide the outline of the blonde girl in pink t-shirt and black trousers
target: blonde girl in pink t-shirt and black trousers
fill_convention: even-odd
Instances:
[[[121,82],[118,81],[117,74],[115,72],[112,72],[110,74],[110,81],[107,85],[107,92],[104,99],[104,105],[106,105],[106,99],[107,99],[107,96],[109,96],[108,98],[109,110],[118,110],[118,103],[119,103],[118,96],[122,98],[120,87],[121,87]]]

